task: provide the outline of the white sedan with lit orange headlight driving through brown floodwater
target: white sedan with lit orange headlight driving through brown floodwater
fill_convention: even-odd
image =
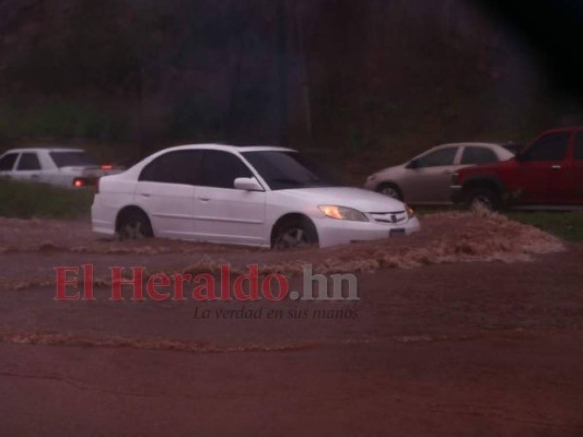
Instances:
[[[94,232],[285,249],[419,230],[403,202],[343,187],[280,147],[186,145],[100,179]]]

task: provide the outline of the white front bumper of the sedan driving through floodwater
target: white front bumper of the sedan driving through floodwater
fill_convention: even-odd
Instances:
[[[383,240],[389,237],[391,230],[402,230],[405,235],[409,235],[421,229],[417,217],[396,225],[374,221],[336,220],[328,217],[313,220],[318,230],[320,247],[349,244],[354,241]]]

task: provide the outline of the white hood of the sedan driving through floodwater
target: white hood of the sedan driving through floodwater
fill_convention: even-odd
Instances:
[[[353,187],[301,188],[281,190],[279,193],[315,205],[335,205],[361,212],[394,212],[405,209],[403,202],[392,197]]]

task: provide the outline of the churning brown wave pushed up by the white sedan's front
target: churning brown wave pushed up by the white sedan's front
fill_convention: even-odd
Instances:
[[[279,255],[285,260],[264,262],[259,269],[264,274],[294,274],[311,264],[317,273],[373,272],[453,262],[529,261],[532,255],[566,250],[556,237],[498,214],[445,213],[427,216],[423,224],[429,226],[417,236],[297,251]],[[272,258],[277,257],[272,254]],[[222,260],[205,256],[185,271],[215,271],[220,264]]]

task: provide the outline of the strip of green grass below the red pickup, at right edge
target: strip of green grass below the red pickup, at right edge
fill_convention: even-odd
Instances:
[[[583,212],[510,211],[508,218],[536,226],[567,241],[583,241]]]

